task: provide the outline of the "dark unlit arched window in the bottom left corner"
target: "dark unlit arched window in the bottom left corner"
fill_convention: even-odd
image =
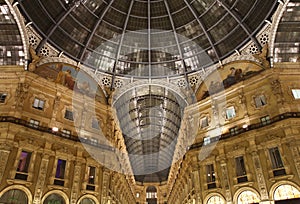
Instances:
[[[28,203],[28,198],[26,193],[24,193],[21,190],[18,189],[13,189],[5,192],[1,198],[0,198],[0,203],[5,203],[5,204],[27,204]]]

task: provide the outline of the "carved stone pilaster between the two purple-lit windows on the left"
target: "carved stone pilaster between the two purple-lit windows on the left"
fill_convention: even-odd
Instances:
[[[41,203],[43,189],[44,189],[45,180],[46,180],[47,169],[48,169],[48,163],[49,163],[49,155],[43,154],[41,166],[40,166],[40,170],[39,170],[39,175],[38,175],[38,180],[37,180],[36,186],[35,186],[35,191],[34,191],[35,193],[33,196],[34,204]]]

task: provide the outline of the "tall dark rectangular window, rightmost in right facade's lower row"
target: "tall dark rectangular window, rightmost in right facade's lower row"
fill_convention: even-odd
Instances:
[[[269,149],[269,154],[272,162],[274,176],[285,175],[286,172],[283,166],[283,162],[278,147]]]

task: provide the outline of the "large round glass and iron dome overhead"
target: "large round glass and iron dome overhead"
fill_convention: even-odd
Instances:
[[[161,77],[208,67],[255,34],[276,0],[18,0],[67,56],[113,75]]]

